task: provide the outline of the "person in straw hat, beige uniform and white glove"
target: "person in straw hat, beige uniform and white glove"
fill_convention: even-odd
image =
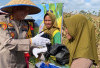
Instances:
[[[25,39],[28,27],[23,19],[41,10],[30,0],[11,0],[1,10],[8,15],[0,16],[0,68],[25,68],[24,52],[32,46],[50,43],[41,37],[43,33]]]

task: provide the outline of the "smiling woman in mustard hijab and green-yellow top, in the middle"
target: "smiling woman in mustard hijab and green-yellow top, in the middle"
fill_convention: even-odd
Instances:
[[[61,34],[57,25],[56,16],[48,11],[44,16],[43,32],[51,36],[51,43],[61,44]]]

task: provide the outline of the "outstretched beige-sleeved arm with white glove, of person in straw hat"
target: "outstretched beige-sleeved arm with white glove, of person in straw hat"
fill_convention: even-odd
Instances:
[[[7,30],[0,30],[0,49],[7,48],[15,51],[29,51],[30,46],[46,46],[50,43],[47,38],[41,37],[44,33],[37,34],[35,37],[30,39],[13,39],[9,36]]]

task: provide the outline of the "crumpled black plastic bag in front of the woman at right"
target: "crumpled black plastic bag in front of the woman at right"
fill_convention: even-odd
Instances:
[[[48,44],[47,52],[44,54],[45,58],[49,60],[50,56],[56,57],[56,62],[60,65],[65,65],[69,63],[69,50],[66,46],[62,44]]]

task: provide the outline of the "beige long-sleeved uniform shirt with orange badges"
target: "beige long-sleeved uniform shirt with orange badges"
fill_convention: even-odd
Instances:
[[[30,48],[27,24],[0,16],[0,68],[24,68],[24,52]]]

